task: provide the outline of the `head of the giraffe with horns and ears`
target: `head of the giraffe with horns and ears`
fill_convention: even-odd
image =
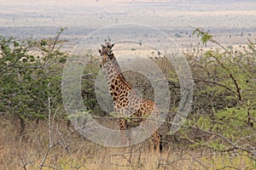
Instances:
[[[108,40],[105,40],[105,45],[102,45],[102,49],[99,49],[99,52],[102,56],[102,65],[103,66],[106,62],[108,62],[109,60],[111,60],[113,58],[113,53],[112,53],[112,48],[113,48],[113,45],[111,42],[110,42],[110,39]]]

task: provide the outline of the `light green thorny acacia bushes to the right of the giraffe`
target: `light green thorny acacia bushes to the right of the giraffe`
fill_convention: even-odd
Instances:
[[[195,79],[191,116],[179,133],[191,148],[206,147],[221,152],[247,153],[256,161],[256,46],[248,41],[239,51],[224,48],[200,28],[194,34],[216,50],[189,56]],[[195,58],[194,58],[195,57]]]

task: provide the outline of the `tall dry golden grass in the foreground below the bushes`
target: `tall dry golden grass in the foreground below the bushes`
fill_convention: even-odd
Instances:
[[[0,169],[253,169],[247,156],[188,150],[165,143],[162,153],[147,144],[108,148],[79,135],[67,122],[29,123],[20,134],[16,119],[0,121]],[[50,141],[51,140],[51,141]],[[51,142],[51,147],[49,143]],[[44,161],[44,162],[43,162]]]

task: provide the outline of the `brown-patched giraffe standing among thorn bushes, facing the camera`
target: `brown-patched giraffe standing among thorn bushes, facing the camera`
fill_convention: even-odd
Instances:
[[[146,121],[146,117],[158,112],[157,105],[153,100],[142,99],[131,88],[122,74],[119,64],[112,53],[113,45],[110,40],[105,40],[105,45],[99,49],[102,56],[101,71],[108,83],[108,92],[113,99],[114,111],[119,116],[119,129],[123,132],[124,142],[126,144],[126,134],[124,133],[128,127],[138,126]],[[132,117],[131,121],[127,121],[125,116]],[[160,152],[162,150],[160,133],[156,130],[153,132],[150,141],[151,150]]]

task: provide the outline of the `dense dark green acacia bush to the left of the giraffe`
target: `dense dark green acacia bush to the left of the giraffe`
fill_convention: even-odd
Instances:
[[[61,105],[61,71],[67,55],[54,41],[0,37],[0,112],[24,121],[44,119],[48,99]]]

